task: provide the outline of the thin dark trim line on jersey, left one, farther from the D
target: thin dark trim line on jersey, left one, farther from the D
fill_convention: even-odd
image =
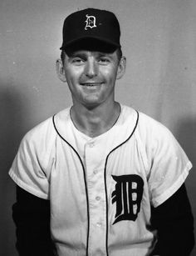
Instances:
[[[85,188],[86,188],[86,205],[87,205],[87,218],[88,218],[88,223],[87,223],[87,239],[86,239],[86,256],[88,256],[90,214],[89,214],[89,198],[88,198],[88,189],[87,189],[87,185],[86,185],[85,167],[84,167],[84,164],[82,163],[81,157],[80,157],[79,153],[77,153],[76,149],[73,148],[73,146],[71,146],[71,144],[68,143],[68,142],[66,141],[66,139],[63,138],[63,137],[61,136],[61,134],[58,132],[58,130],[57,130],[57,128],[56,128],[56,124],[55,124],[55,115],[52,117],[52,122],[53,122],[54,128],[55,128],[55,130],[56,130],[56,133],[59,135],[59,137],[60,137],[62,140],[64,140],[64,141],[73,149],[73,151],[76,153],[76,155],[77,155],[78,158],[80,159],[81,167],[82,167],[82,169],[83,169],[84,181],[85,181]]]

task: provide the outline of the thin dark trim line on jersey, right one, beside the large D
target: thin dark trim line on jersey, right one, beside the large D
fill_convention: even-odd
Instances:
[[[135,128],[133,129],[132,133],[130,134],[130,136],[125,139],[125,141],[123,143],[120,143],[120,145],[118,145],[117,147],[113,148],[110,153],[114,152],[115,149],[120,148],[120,146],[122,146],[123,144],[125,144],[131,137],[132,135],[135,133],[135,129],[137,128],[138,122],[139,122],[139,113],[137,110],[135,110],[137,113],[137,120],[135,123]],[[105,168],[104,168],[104,181],[105,181],[105,203],[106,203],[106,238],[105,238],[105,248],[106,248],[106,254],[107,256],[109,256],[108,253],[108,196],[107,196],[107,184],[106,184],[106,165],[107,165],[107,161],[108,158],[110,156],[110,153],[108,153],[107,157],[105,158]]]

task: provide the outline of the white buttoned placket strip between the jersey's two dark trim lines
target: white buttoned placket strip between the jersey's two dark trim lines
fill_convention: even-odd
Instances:
[[[104,180],[100,172],[100,151],[99,143],[89,141],[85,147],[86,154],[86,178],[90,202],[90,236],[89,248],[94,251],[102,248],[105,251],[105,198]],[[91,185],[90,185],[91,184]]]

